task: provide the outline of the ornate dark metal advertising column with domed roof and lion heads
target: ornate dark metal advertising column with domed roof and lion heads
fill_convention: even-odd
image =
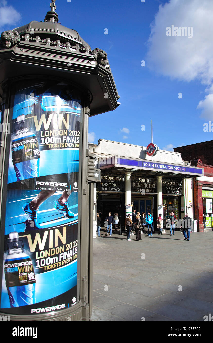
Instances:
[[[1,314],[88,320],[92,314],[93,157],[88,117],[116,109],[107,54],[44,23],[0,41]],[[105,96],[107,93],[107,97]]]

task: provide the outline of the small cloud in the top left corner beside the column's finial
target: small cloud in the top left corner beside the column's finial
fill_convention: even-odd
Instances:
[[[17,12],[13,6],[8,5],[7,1],[3,0],[0,4],[0,28],[8,25],[8,29],[12,29],[11,26],[16,25],[21,19],[21,14]]]

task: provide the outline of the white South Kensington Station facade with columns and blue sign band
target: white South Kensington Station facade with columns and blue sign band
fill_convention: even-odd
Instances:
[[[96,168],[101,169],[101,182],[94,190],[94,213],[101,213],[103,225],[111,212],[118,213],[124,227],[126,216],[135,209],[145,214],[150,211],[153,219],[161,213],[164,227],[170,212],[179,221],[187,212],[197,230],[192,179],[204,176],[202,167],[191,166],[180,153],[158,149],[156,144],[152,148],[150,144],[138,146],[100,139],[97,145],[89,143],[89,150],[95,156]],[[94,227],[95,219],[94,214]]]

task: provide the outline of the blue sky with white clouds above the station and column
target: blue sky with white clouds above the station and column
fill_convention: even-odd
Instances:
[[[49,3],[1,1],[1,31],[43,21]],[[146,146],[151,119],[160,149],[213,139],[203,130],[204,123],[213,123],[212,0],[56,0],[56,5],[62,25],[78,31],[92,49],[107,52],[120,95],[115,111],[89,119],[90,142]],[[192,27],[192,37],[167,36],[171,25]]]

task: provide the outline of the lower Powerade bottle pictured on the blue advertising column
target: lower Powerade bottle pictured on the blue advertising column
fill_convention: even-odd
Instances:
[[[9,237],[9,255],[4,262],[4,273],[10,307],[34,304],[36,281],[32,260],[25,254],[19,234],[14,231]]]

